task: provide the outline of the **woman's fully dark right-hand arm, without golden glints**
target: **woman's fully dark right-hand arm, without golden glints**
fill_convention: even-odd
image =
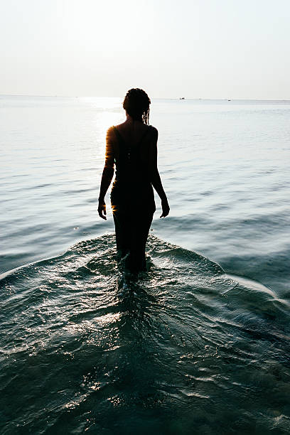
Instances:
[[[160,218],[165,218],[168,215],[170,208],[168,205],[166,193],[164,192],[161,183],[161,178],[157,167],[157,140],[158,140],[158,131],[157,129],[154,128],[154,136],[150,144],[150,152],[149,152],[149,173],[150,173],[151,184],[156,190],[156,192],[158,193],[159,198],[161,199],[162,215],[160,216]]]

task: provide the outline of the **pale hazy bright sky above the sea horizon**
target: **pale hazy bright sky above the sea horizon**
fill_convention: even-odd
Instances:
[[[290,0],[0,0],[0,94],[290,99]]]

